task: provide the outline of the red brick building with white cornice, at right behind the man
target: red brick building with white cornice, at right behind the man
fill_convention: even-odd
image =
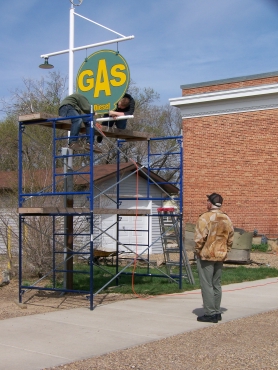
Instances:
[[[218,192],[236,227],[278,237],[278,72],[181,89],[184,221]]]

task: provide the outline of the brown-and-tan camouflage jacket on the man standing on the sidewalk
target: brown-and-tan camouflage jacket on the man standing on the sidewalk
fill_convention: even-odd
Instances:
[[[220,209],[203,213],[195,228],[195,251],[208,261],[224,261],[233,245],[234,228],[228,215]]]

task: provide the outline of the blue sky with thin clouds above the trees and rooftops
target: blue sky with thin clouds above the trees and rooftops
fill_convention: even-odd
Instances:
[[[48,73],[38,68],[41,54],[68,49],[70,4],[1,0],[1,98],[21,88],[23,77]],[[119,51],[131,78],[158,92],[161,104],[181,96],[184,84],[278,70],[278,0],[83,0],[75,11],[135,36],[119,43]],[[75,16],[75,47],[114,38]],[[85,56],[85,51],[75,53],[75,75]],[[49,62],[68,74],[68,54]]]

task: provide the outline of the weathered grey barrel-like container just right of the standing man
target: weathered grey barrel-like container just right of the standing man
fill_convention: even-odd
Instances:
[[[225,262],[250,263],[253,232],[235,228],[234,242]]]

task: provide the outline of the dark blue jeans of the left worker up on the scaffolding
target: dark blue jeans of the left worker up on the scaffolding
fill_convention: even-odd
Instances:
[[[59,116],[60,117],[74,117],[74,116],[80,116],[80,113],[78,113],[77,110],[75,110],[72,105],[68,104],[68,105],[63,105],[59,109]],[[78,117],[78,118],[71,118],[69,144],[78,140],[78,135],[80,132],[82,122],[84,123],[85,129],[86,129],[86,135],[87,135],[86,141],[90,142],[91,121],[89,118]]]

